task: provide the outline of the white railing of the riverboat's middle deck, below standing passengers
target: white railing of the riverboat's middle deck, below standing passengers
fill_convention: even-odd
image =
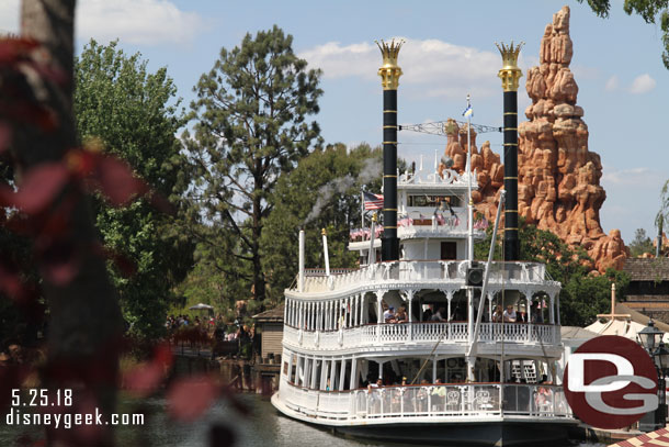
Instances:
[[[466,322],[368,324],[341,331],[310,332],[284,326],[283,339],[307,349],[337,350],[401,345],[406,342],[468,343]],[[528,323],[481,323],[480,343],[560,343],[559,326]]]

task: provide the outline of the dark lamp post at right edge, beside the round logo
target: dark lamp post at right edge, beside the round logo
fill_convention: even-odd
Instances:
[[[649,320],[648,325],[637,334],[639,343],[650,357],[653,357],[653,362],[657,370],[657,388],[659,392],[657,410],[646,413],[638,423],[638,429],[642,432],[654,432],[666,425],[667,405],[665,378],[667,369],[669,368],[669,349],[667,349],[662,343],[664,335],[664,332],[655,327],[653,320]]]

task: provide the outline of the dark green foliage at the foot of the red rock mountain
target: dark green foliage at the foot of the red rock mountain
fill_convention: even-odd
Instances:
[[[489,227],[485,242],[475,246],[477,259],[488,259],[492,228]],[[611,309],[611,282],[615,282],[619,300],[624,295],[630,278],[622,271],[606,270],[605,275],[593,272],[593,261],[586,252],[572,249],[557,235],[520,223],[522,260],[542,262],[555,281],[562,283],[559,294],[560,323],[564,326],[586,326],[594,322],[597,314],[609,313]],[[502,259],[501,237],[498,234],[495,259]]]

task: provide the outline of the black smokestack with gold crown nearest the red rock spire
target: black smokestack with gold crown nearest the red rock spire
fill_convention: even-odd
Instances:
[[[497,74],[504,91],[504,260],[520,259],[518,238],[518,85],[523,76],[518,67],[518,55],[524,45],[515,47],[495,44],[502,56],[503,66]]]

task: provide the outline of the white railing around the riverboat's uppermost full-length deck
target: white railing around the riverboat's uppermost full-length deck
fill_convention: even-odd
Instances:
[[[329,277],[321,275],[320,269],[309,269],[304,281],[305,293],[347,290],[366,286],[370,290],[374,284],[383,282],[384,287],[398,282],[424,281],[465,281],[467,261],[462,260],[395,260],[363,266],[355,270],[331,272]],[[519,283],[543,284],[546,282],[546,269],[537,262],[491,262],[490,284],[507,287]]]

